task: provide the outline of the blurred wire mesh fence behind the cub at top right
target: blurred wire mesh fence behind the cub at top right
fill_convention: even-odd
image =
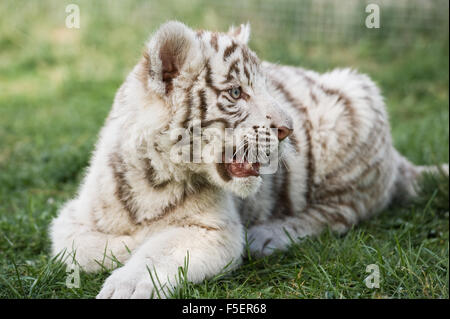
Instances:
[[[365,24],[369,4],[379,7],[379,28]],[[421,34],[449,36],[448,0],[229,0],[212,5],[221,19],[249,20],[253,33],[267,38],[342,44],[395,38],[402,46]]]

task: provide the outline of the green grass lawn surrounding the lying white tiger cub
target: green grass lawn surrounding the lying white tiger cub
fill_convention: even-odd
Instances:
[[[82,273],[80,289],[66,287],[65,268],[49,257],[47,228],[76,192],[115,91],[159,23],[177,18],[219,29],[238,22],[218,19],[203,1],[82,1],[81,29],[69,30],[65,5],[0,3],[0,298],[98,293],[107,272]],[[417,164],[448,162],[448,38],[421,35],[404,47],[391,42],[269,41],[256,30],[251,46],[270,61],[368,73],[386,97],[395,146]],[[417,203],[392,207],[345,236],[324,233],[286,253],[247,260],[232,273],[183,284],[175,296],[448,298],[449,182],[428,178],[423,185]],[[369,264],[380,267],[379,289],[364,284]]]

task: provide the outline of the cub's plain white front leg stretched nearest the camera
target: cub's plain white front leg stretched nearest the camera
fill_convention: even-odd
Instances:
[[[203,227],[168,227],[147,238],[106,279],[97,298],[148,299],[152,294],[167,298],[184,279],[199,283],[236,267],[242,255],[242,227],[234,223],[221,229]]]

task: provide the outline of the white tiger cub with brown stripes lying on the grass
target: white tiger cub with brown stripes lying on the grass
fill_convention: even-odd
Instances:
[[[98,298],[166,292],[187,254],[193,282],[235,267],[246,227],[252,253],[267,255],[286,249],[289,237],[345,232],[394,198],[414,196],[427,168],[393,148],[383,99],[367,76],[261,62],[249,32],[168,22],[117,92],[79,193],[50,229],[52,253],[69,253],[67,263],[88,272],[123,264]],[[195,121],[246,128],[257,143],[262,134],[280,140],[278,170],[261,175],[245,156],[174,162],[171,132],[192,131]]]

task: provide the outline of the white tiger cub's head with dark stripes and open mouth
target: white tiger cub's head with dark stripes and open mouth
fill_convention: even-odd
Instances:
[[[162,147],[171,159],[242,197],[258,189],[265,168],[276,171],[279,142],[293,129],[249,35],[248,24],[219,33],[168,22],[147,44],[141,76],[171,114],[170,150]]]

